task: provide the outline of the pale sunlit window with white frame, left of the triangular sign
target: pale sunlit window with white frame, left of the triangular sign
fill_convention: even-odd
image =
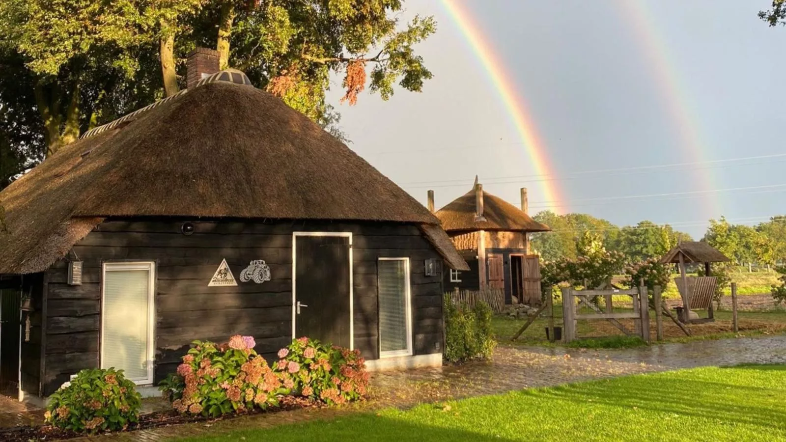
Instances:
[[[104,263],[102,273],[101,368],[152,384],[155,264]]]

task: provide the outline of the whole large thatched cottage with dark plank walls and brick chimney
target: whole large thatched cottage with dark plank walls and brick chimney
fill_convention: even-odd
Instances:
[[[97,366],[156,385],[235,333],[266,356],[305,335],[372,369],[441,364],[439,264],[468,267],[439,219],[212,51],[188,64],[187,90],[0,193],[4,392]]]

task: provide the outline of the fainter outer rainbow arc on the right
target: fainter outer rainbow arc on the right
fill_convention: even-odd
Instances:
[[[652,67],[652,80],[660,90],[663,106],[667,108],[674,129],[678,132],[680,150],[693,162],[707,161],[711,156],[707,152],[708,146],[702,142],[700,124],[689,112],[693,105],[689,100],[688,87],[681,83],[677,64],[670,57],[665,40],[659,35],[658,26],[653,20],[654,15],[641,0],[619,0],[616,3],[619,5],[620,19],[637,36],[635,40],[642,46],[641,53]],[[710,192],[718,187],[709,168],[695,171],[693,179],[703,192]],[[707,217],[722,213],[718,197],[702,201]]]

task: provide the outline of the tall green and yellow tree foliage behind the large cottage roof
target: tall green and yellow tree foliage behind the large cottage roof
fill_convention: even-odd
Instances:
[[[177,92],[196,46],[219,50],[222,66],[346,140],[325,101],[332,74],[343,76],[350,105],[366,87],[387,100],[396,84],[420,92],[432,78],[414,46],[435,32],[435,20],[402,23],[402,8],[402,0],[0,2],[0,65],[21,78],[0,79],[0,112],[26,109],[13,123],[0,114],[0,179]],[[16,132],[28,138],[6,141]]]

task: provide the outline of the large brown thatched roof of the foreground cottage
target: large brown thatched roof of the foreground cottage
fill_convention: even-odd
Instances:
[[[434,215],[263,90],[204,83],[89,135],[0,192],[0,273],[43,271],[123,216],[415,223],[466,268]]]

